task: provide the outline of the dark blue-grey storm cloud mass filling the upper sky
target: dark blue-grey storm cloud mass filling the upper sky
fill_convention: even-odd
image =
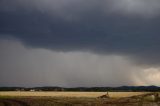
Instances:
[[[1,0],[0,36],[32,47],[126,54],[155,64],[159,5],[159,0]]]

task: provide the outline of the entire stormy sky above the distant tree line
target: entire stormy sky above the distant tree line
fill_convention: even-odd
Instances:
[[[0,86],[160,86],[159,0],[0,0]]]

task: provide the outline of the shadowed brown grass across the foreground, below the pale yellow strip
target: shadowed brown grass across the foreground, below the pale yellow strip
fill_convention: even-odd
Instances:
[[[159,106],[152,101],[141,105],[125,98],[80,98],[80,97],[1,97],[0,106]]]

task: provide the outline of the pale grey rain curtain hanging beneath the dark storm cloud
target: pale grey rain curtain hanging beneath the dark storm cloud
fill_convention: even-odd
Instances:
[[[0,50],[0,86],[138,84],[132,73],[138,68],[123,56],[33,49],[16,40],[0,40]]]

